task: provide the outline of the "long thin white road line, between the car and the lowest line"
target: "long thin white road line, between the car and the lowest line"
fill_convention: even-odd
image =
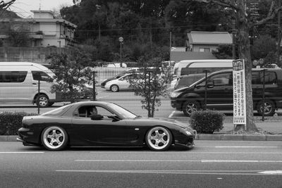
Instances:
[[[97,159],[76,159],[76,162],[200,162],[200,163],[282,163],[282,161],[259,161],[259,160],[97,160]]]

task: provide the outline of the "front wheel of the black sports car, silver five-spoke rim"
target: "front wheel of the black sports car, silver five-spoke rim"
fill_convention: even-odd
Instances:
[[[171,146],[171,131],[165,127],[152,127],[146,134],[146,144],[153,151],[164,151]]]

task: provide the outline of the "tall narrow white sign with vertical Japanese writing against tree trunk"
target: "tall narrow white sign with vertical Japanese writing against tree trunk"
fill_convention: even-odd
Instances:
[[[233,61],[233,123],[246,125],[245,61]]]

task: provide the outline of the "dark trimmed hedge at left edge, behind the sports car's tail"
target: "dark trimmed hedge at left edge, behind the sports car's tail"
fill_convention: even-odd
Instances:
[[[35,113],[0,113],[0,135],[17,135],[18,129],[22,127],[23,116],[37,115]]]

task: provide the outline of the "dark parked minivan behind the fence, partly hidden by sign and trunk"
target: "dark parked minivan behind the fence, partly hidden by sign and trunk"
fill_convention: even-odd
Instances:
[[[282,69],[270,68],[252,70],[252,98],[254,110],[260,115],[274,115],[282,108]],[[263,76],[263,74],[265,76]],[[264,84],[263,84],[264,83]],[[187,116],[204,107],[205,77],[189,87],[176,89],[171,93],[171,106]],[[263,108],[264,87],[264,108]],[[233,72],[221,70],[207,76],[207,108],[233,110]]]

